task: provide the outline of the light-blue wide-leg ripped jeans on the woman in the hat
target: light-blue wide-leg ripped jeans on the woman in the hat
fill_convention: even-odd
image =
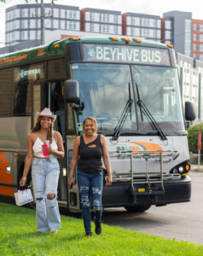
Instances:
[[[48,159],[33,158],[32,183],[36,201],[37,229],[49,232],[61,226],[61,218],[57,202],[57,186],[59,179],[59,163],[55,157]],[[49,194],[55,195],[48,199]]]

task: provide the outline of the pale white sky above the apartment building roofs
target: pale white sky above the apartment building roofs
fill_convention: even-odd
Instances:
[[[18,3],[25,3],[24,0],[7,0],[9,4],[16,1]],[[44,3],[50,2],[51,0],[44,0]],[[38,3],[41,3],[41,0],[38,0]],[[184,2],[178,0],[57,0],[55,3],[78,6],[79,9],[110,9],[121,11],[122,14],[131,12],[147,15],[159,15],[160,17],[162,17],[165,12],[178,10],[192,12],[193,19],[203,20],[203,1],[201,0],[186,0]],[[2,4],[0,4],[0,6],[1,5]]]

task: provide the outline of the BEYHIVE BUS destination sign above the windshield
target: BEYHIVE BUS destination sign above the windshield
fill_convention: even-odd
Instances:
[[[83,44],[83,61],[131,62],[171,66],[168,49],[112,44]]]

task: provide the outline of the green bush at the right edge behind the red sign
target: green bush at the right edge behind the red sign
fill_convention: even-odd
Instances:
[[[188,128],[188,148],[193,153],[198,153],[198,132],[201,132],[201,145],[203,145],[203,123]]]

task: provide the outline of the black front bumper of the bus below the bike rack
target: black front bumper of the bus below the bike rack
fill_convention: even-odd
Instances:
[[[184,176],[178,180],[166,180],[163,189],[145,189],[146,184],[139,184],[139,188],[132,191],[130,183],[122,182],[113,183],[109,187],[104,185],[102,205],[103,207],[163,206],[190,201],[191,178]]]

